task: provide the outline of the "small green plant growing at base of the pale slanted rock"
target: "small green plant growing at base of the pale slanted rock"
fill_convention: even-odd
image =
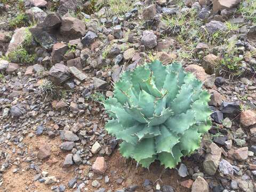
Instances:
[[[27,50],[20,46],[18,49],[11,51],[8,56],[7,60],[15,63],[34,63],[36,60],[36,54],[29,54]]]

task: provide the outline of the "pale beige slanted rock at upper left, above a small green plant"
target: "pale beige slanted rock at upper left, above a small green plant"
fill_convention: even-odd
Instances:
[[[29,33],[29,31],[26,27],[21,27],[21,28],[15,29],[5,55],[8,55],[11,51],[14,51],[19,46],[22,46],[23,43],[25,42],[25,39],[26,39],[28,33]]]

